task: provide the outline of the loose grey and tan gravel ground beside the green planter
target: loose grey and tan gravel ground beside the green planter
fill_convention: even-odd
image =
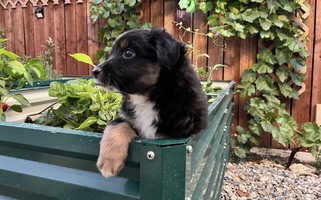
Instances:
[[[308,164],[294,163],[285,169],[286,158],[251,154],[229,163],[222,200],[321,200],[321,173]]]

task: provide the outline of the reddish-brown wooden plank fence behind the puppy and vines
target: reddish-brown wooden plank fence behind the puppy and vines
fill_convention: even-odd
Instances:
[[[321,103],[321,4],[317,0],[308,0],[310,13],[307,19],[307,48],[310,57],[307,59],[305,91],[300,100],[290,102],[287,110],[299,124],[315,121],[316,104]],[[35,8],[44,6],[44,19],[35,17]],[[241,73],[256,61],[259,49],[257,38],[239,39],[209,38],[184,34],[173,21],[182,22],[185,27],[206,32],[207,15],[202,12],[186,13],[178,9],[174,0],[143,0],[140,4],[144,22],[151,22],[155,27],[165,27],[178,39],[194,44],[191,55],[196,66],[213,66],[225,64],[213,74],[213,79],[240,81]],[[8,49],[16,54],[35,57],[44,50],[41,47],[51,37],[56,45],[54,55],[55,68],[64,75],[89,75],[91,68],[77,63],[68,54],[81,52],[94,58],[98,49],[104,44],[98,41],[98,29],[103,21],[93,23],[89,14],[89,0],[0,0],[0,28],[6,28]],[[222,50],[224,46],[224,51]],[[197,52],[208,53],[210,58],[196,59]],[[246,124],[247,114],[244,111],[245,100],[234,97],[235,109],[233,124]],[[264,134],[262,147],[280,147]]]

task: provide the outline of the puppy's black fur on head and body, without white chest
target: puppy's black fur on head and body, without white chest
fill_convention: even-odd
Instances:
[[[134,52],[133,57],[126,57]],[[132,95],[140,95],[154,105],[158,113],[150,126],[156,138],[188,137],[207,126],[207,100],[201,84],[185,55],[183,43],[164,29],[131,30],[113,45],[110,58],[93,70],[103,88],[123,94],[120,119],[135,124],[137,105]],[[113,123],[117,123],[117,121]]]

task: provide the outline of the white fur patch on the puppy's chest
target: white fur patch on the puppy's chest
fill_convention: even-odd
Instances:
[[[143,95],[130,95],[130,102],[135,106],[135,118],[132,125],[139,131],[139,135],[146,139],[156,138],[156,127],[153,125],[158,120],[158,111],[154,103]]]

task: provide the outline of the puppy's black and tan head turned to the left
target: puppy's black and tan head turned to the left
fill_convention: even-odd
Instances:
[[[161,70],[172,70],[183,57],[184,44],[164,29],[131,30],[115,40],[109,59],[93,74],[108,91],[144,94],[157,83]]]

